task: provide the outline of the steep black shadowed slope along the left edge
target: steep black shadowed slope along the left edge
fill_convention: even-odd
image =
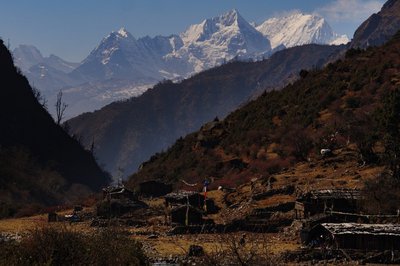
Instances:
[[[2,41],[0,73],[0,217],[107,184],[92,154],[55,124]]]

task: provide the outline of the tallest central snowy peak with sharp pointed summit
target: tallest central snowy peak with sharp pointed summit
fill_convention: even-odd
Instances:
[[[234,57],[257,58],[271,50],[269,40],[237,10],[192,25],[180,37],[183,47],[167,56],[187,58],[196,72]]]

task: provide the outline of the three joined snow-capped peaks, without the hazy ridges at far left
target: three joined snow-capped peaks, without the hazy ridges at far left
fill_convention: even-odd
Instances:
[[[167,37],[135,39],[121,28],[105,37],[73,74],[87,81],[123,78],[148,84],[185,78],[233,58],[259,59],[271,48],[347,41],[317,15],[293,13],[254,27],[231,10]]]

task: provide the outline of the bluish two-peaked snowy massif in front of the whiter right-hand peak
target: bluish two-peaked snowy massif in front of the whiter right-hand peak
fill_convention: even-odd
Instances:
[[[105,37],[74,72],[91,80],[151,82],[187,77],[234,57],[256,58],[270,50],[269,40],[232,10],[192,25],[179,36],[136,40],[121,28]]]

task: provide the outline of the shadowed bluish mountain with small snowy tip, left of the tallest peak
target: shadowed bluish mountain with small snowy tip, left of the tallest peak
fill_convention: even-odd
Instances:
[[[135,82],[155,83],[163,78],[172,79],[187,73],[179,65],[168,65],[163,58],[182,46],[179,36],[156,36],[135,39],[128,31],[121,28],[111,32],[90,53],[73,75],[84,76],[88,81],[120,78]],[[174,73],[169,69],[178,71]],[[180,69],[179,69],[180,68]]]

